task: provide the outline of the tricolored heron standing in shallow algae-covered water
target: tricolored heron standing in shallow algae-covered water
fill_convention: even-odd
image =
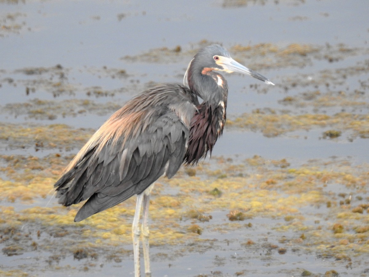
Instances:
[[[151,276],[148,213],[152,184],[162,175],[173,177],[183,163],[196,164],[211,153],[223,133],[228,86],[214,71],[238,72],[274,85],[236,62],[220,45],[207,46],[190,62],[184,85],[163,83],[128,101],[87,141],[55,184],[56,197],[64,206],[87,199],[75,221],[138,195],[132,224],[136,277],[140,276],[142,205],[145,273]]]

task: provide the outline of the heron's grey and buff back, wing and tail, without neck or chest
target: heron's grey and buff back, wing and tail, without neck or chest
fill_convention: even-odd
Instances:
[[[96,133],[111,122],[126,128],[112,130],[104,140],[93,136],[56,182],[59,203],[88,199],[76,215],[80,221],[140,194],[163,174],[171,178],[183,163],[194,103],[189,89],[176,83],[145,90],[127,102]],[[134,126],[126,119],[137,110],[142,120]]]

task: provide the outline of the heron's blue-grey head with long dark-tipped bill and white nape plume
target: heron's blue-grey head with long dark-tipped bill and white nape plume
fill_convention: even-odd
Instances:
[[[196,63],[193,63],[194,61],[196,61]],[[196,54],[187,68],[186,74],[184,75],[184,82],[188,82],[187,78],[189,77],[190,67],[194,67],[191,69],[192,71],[199,70],[203,74],[213,70],[227,73],[242,73],[259,79],[267,84],[274,85],[268,78],[236,62],[231,58],[227,49],[219,44],[212,44],[204,47]]]

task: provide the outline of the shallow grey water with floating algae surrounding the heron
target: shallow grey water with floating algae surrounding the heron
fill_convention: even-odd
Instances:
[[[212,159],[159,179],[153,276],[369,274],[366,0],[0,1],[0,275],[133,276],[135,199],[80,223],[52,185],[137,92],[222,43]],[[338,275],[339,274],[339,275]]]

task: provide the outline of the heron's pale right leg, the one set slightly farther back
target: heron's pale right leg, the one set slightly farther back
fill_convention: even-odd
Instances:
[[[151,277],[149,247],[149,204],[150,194],[144,193],[144,211],[142,214],[142,248],[144,251],[145,276]]]

